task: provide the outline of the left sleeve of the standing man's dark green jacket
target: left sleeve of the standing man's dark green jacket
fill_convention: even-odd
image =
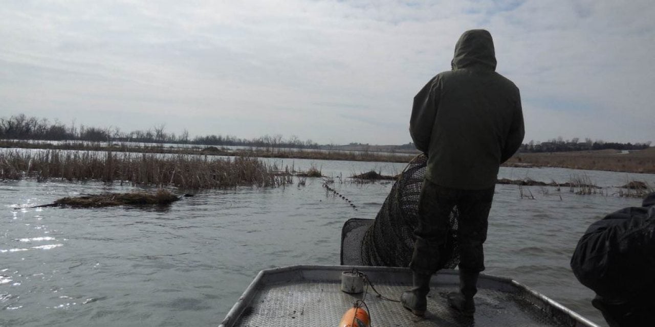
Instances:
[[[409,120],[409,135],[411,135],[416,148],[424,153],[428,153],[434,119],[437,116],[439,104],[438,81],[439,75],[432,78],[428,84],[425,84],[414,97],[414,105]]]

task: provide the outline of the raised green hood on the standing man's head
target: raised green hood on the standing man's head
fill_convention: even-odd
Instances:
[[[453,69],[481,66],[495,71],[496,54],[491,34],[484,29],[465,31],[455,44],[451,66]]]

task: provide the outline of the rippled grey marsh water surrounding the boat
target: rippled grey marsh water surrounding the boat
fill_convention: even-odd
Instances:
[[[339,264],[341,226],[374,218],[392,184],[356,184],[346,176],[375,169],[400,173],[402,164],[284,160],[315,165],[337,177],[355,205],[305,186],[200,192],[166,208],[29,208],[65,196],[127,192],[132,187],[89,182],[0,182],[0,326],[216,326],[261,269]],[[655,175],[502,168],[500,178],[569,181],[586,174],[599,186]],[[342,177],[341,179],[339,177]],[[569,267],[591,222],[641,203],[562,188],[496,186],[486,273],[512,277],[604,325]],[[183,191],[180,191],[183,193]],[[14,207],[19,207],[16,210]],[[335,317],[334,326],[340,317]]]

